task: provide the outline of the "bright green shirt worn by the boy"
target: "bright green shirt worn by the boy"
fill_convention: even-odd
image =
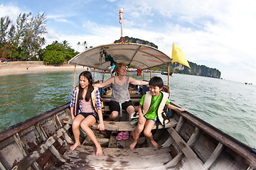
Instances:
[[[152,100],[151,100],[151,105],[154,103],[154,101],[156,101],[157,96],[152,96]],[[152,108],[150,109],[150,111],[148,111],[148,113],[146,113],[145,117],[148,119],[155,119],[157,117],[157,109],[159,108],[159,105],[161,103],[161,99],[163,98],[163,94],[160,93],[159,94],[159,98],[157,99],[156,103],[154,103],[154,106],[152,106]],[[140,105],[143,106],[144,103],[144,99],[145,99],[145,94],[142,96],[141,101],[139,102]],[[166,101],[166,105],[168,105],[171,101],[169,99],[167,99]],[[149,107],[149,108],[150,108]],[[164,108],[163,108],[164,109]]]

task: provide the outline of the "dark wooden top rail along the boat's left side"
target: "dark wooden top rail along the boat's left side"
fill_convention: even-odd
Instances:
[[[39,123],[43,120],[46,120],[52,115],[55,115],[56,113],[59,113],[60,111],[64,111],[66,108],[70,106],[70,102],[65,103],[61,106],[52,108],[46,112],[43,112],[41,114],[35,115],[32,118],[28,118],[27,120],[23,120],[20,123],[17,123],[15,125],[10,126],[9,128],[6,128],[4,130],[0,131],[0,142],[5,140],[8,137],[11,137],[12,135],[21,132],[22,130],[26,130],[27,128],[36,125],[36,123]]]

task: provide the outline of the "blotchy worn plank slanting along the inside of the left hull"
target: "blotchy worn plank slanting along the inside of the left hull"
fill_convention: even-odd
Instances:
[[[59,137],[63,135],[63,132],[66,132],[70,128],[70,125],[65,125],[63,128],[55,132],[53,136],[50,136],[46,142],[43,142],[42,145],[36,147],[32,152],[30,152],[24,159],[21,160],[21,162],[18,162],[16,166],[13,167],[13,169],[28,169],[29,166],[31,166],[32,162],[35,162],[38,157],[41,156],[46,150],[53,145],[53,143],[58,140]]]

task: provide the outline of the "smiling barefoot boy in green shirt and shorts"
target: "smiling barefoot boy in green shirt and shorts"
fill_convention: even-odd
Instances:
[[[149,91],[150,91],[150,96],[151,96],[151,103],[150,103],[150,108],[146,108],[146,103],[145,101],[145,96],[142,96],[142,100],[139,102],[139,108],[138,108],[138,113],[139,113],[139,122],[137,125],[137,128],[134,132],[134,142],[130,145],[130,149],[134,149],[134,147],[137,145],[139,135],[141,134],[142,130],[144,130],[144,135],[146,137],[149,137],[149,141],[154,147],[158,147],[158,144],[156,141],[153,139],[153,135],[151,133],[152,128],[154,127],[154,124],[157,119],[157,111],[159,109],[159,105],[161,103],[161,100],[163,99],[164,94],[161,91],[164,87],[164,82],[161,79],[161,77],[152,77],[149,81]],[[146,101],[148,98],[146,98]],[[185,108],[178,108],[176,106],[173,106],[170,104],[170,100],[167,98],[166,103],[165,103],[167,108],[171,108],[174,110],[179,110],[179,111],[186,111]],[[142,106],[143,111],[142,111]],[[161,108],[164,109],[164,108]],[[147,110],[147,111],[146,111]]]

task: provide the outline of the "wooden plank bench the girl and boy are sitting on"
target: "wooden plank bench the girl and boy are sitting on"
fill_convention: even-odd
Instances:
[[[63,123],[72,124],[71,117],[68,115],[61,120]],[[97,129],[97,123],[92,125],[92,129]],[[129,122],[114,122],[114,121],[104,121],[105,130],[114,130],[114,131],[132,131],[135,130],[137,126],[132,126]],[[170,122],[165,125],[165,128],[171,128],[177,125],[177,121],[174,118],[170,119]],[[159,125],[159,129],[164,128],[162,125]],[[156,129],[156,125],[154,128]]]

